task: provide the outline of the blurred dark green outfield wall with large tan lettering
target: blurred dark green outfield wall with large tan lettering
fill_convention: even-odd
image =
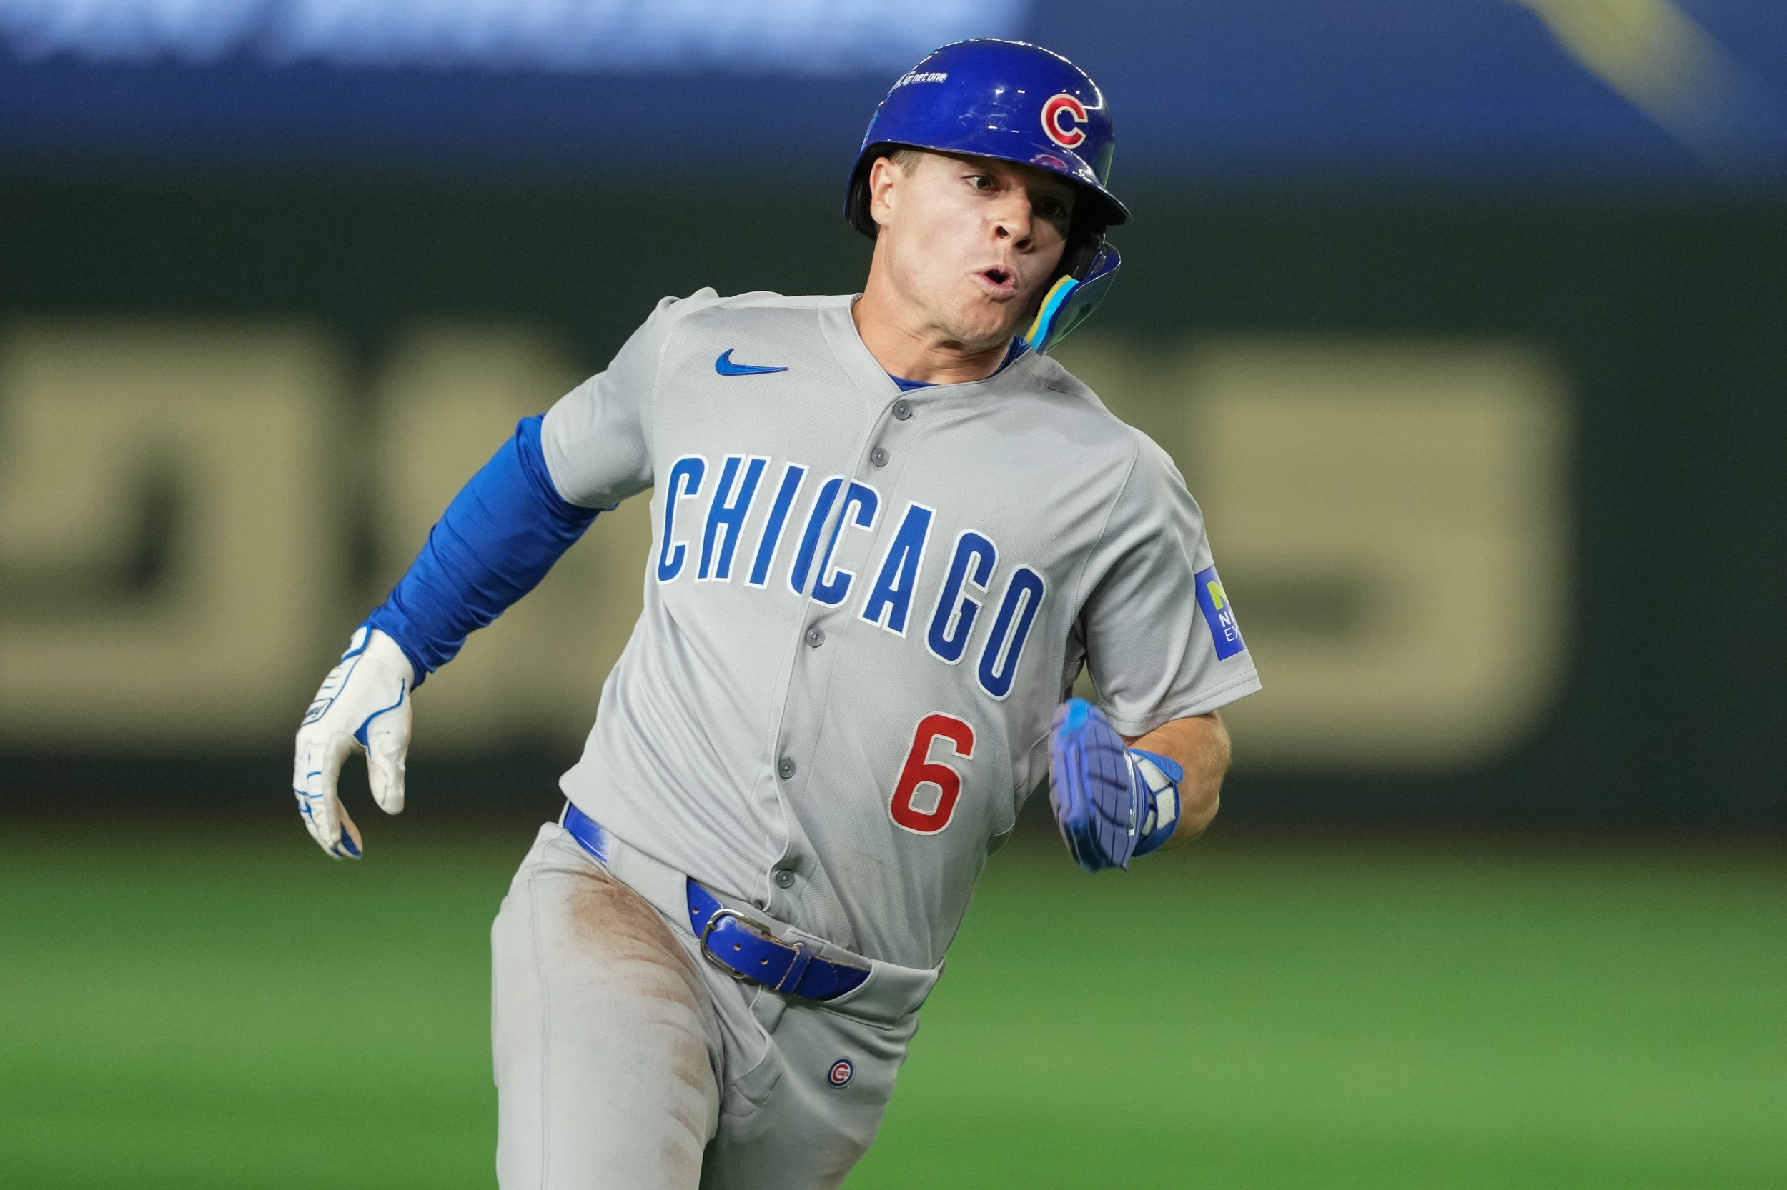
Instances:
[[[1267,686],[1235,817],[1787,822],[1787,205],[1135,205],[1061,357],[1210,516]],[[847,291],[867,245],[817,182],[45,173],[0,261],[0,768],[239,797],[518,416],[665,293]],[[647,543],[599,518],[429,681],[418,806],[574,754]]]

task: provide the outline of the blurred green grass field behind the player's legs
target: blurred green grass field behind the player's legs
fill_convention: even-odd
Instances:
[[[11,831],[0,1185],[493,1185],[499,834]],[[1020,840],[851,1186],[1787,1186],[1787,865]]]

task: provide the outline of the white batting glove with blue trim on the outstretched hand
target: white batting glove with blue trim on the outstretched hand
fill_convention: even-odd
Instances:
[[[348,752],[366,754],[366,775],[379,809],[404,808],[404,754],[409,750],[409,688],[415,670],[397,641],[361,625],[329,670],[298,724],[291,792],[311,838],[336,859],[359,859],[359,827],[336,797]]]

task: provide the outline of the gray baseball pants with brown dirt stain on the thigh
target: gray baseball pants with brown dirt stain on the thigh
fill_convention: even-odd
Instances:
[[[622,840],[599,863],[540,827],[491,927],[502,1190],[817,1190],[874,1140],[940,968],[727,902],[870,968],[824,1002],[740,983],[702,958],[684,881]]]

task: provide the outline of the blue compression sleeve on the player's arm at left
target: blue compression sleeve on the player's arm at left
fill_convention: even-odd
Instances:
[[[540,447],[540,416],[472,475],[429,541],[366,624],[399,643],[422,679],[454,659],[472,629],[540,584],[597,509],[558,493]]]

